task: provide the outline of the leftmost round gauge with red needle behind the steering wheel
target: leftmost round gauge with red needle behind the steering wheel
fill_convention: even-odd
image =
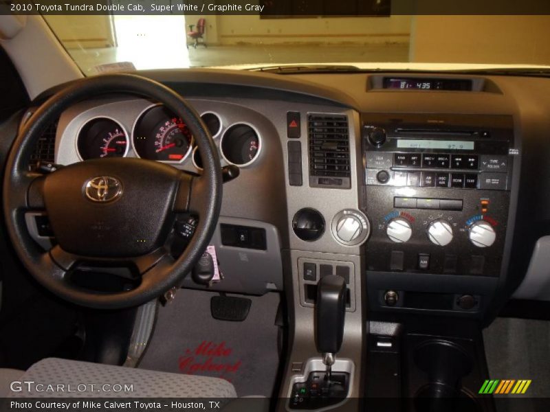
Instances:
[[[76,148],[83,160],[124,157],[129,139],[122,126],[109,117],[89,120],[78,132]]]

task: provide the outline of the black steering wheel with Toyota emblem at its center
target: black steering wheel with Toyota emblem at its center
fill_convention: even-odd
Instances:
[[[82,161],[47,175],[30,172],[30,156],[47,125],[72,104],[106,93],[140,95],[181,117],[199,146],[202,174],[122,157]],[[137,306],[179,286],[208,247],[221,208],[221,166],[207,130],[186,100],[141,76],[96,76],[53,95],[26,122],[5,166],[5,222],[28,271],[59,297],[91,308]],[[44,210],[56,240],[49,251],[32,240],[25,223],[26,213]],[[199,222],[185,251],[173,258],[168,240],[178,213],[195,214]],[[71,273],[81,264],[131,267],[139,284],[115,293],[76,286]]]

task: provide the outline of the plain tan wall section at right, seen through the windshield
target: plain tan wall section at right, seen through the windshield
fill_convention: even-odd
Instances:
[[[410,61],[547,65],[549,38],[550,16],[414,16]]]

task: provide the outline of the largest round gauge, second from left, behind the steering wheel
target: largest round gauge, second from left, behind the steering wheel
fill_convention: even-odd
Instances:
[[[180,117],[164,106],[153,106],[135,122],[132,142],[142,159],[181,163],[191,152],[193,137]]]

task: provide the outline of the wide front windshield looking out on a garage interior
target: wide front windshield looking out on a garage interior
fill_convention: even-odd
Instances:
[[[323,4],[329,3],[334,2]],[[333,7],[338,11],[348,3],[362,2],[339,1]],[[390,63],[402,68],[443,63],[438,69],[454,63],[550,65],[549,16],[392,14],[389,0],[364,3],[369,10],[351,8],[347,16],[326,10],[317,10],[319,15],[177,14],[145,8],[133,15],[44,18],[87,76],[131,69],[311,64],[347,65],[343,69]]]

